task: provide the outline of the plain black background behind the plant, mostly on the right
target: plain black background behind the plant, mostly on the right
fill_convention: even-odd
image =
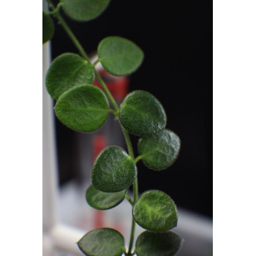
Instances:
[[[162,102],[167,129],[181,138],[181,152],[160,172],[138,162],[139,191],[161,189],[178,206],[212,217],[212,1],[112,0],[87,23],[63,16],[87,53],[108,36],[125,37],[143,49],[145,59],[130,76],[129,89],[149,91]],[[65,52],[78,50],[56,23],[52,57]],[[74,178],[75,132],[59,121],[56,127],[62,185]],[[133,145],[137,140],[132,137]]]

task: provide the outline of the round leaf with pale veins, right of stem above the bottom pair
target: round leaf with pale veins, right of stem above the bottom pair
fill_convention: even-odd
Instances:
[[[132,210],[135,221],[147,230],[162,232],[177,225],[177,210],[173,200],[164,192],[143,193]]]

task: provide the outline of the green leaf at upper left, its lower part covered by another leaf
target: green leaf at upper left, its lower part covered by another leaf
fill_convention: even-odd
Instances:
[[[91,64],[75,53],[64,53],[53,60],[46,74],[46,88],[53,99],[64,91],[94,81]]]

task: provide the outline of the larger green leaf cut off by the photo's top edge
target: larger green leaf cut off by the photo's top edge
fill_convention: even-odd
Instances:
[[[110,0],[61,0],[63,10],[73,20],[87,21],[97,18]]]

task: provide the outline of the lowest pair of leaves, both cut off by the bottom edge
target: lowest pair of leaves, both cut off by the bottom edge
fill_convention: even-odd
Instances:
[[[171,231],[138,236],[135,253],[138,256],[173,256],[181,248],[183,239]],[[79,249],[88,256],[121,256],[125,252],[124,237],[117,230],[99,228],[91,230],[78,241]]]

